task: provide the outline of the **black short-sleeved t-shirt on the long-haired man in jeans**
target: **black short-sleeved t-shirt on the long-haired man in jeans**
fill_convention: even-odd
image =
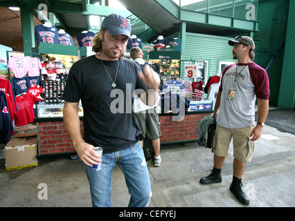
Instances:
[[[116,88],[114,81],[117,64]],[[147,90],[138,77],[134,61],[102,61],[95,55],[76,61],[66,80],[63,99],[79,102],[84,111],[84,140],[93,146],[101,146],[103,153],[111,153],[132,146],[143,139],[132,105],[136,88]]]

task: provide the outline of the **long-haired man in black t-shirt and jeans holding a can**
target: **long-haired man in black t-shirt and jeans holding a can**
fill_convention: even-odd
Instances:
[[[93,39],[93,51],[98,54],[71,67],[63,94],[64,124],[80,160],[86,164],[93,206],[111,206],[111,173],[116,163],[124,171],[132,195],[129,206],[147,206],[152,195],[150,177],[139,142],[143,135],[132,104],[134,93],[141,94],[143,102],[149,101],[148,97],[157,98],[160,79],[150,66],[145,67],[143,75],[133,61],[123,59],[131,32],[127,19],[111,14],[101,27]],[[83,138],[78,116],[80,99]],[[103,148],[102,157],[94,146]],[[100,171],[93,171],[91,166],[98,163]]]

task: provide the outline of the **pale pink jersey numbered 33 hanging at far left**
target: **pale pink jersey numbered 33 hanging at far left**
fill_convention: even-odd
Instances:
[[[15,77],[24,77],[28,72],[28,58],[26,57],[10,57],[8,60],[8,68]]]

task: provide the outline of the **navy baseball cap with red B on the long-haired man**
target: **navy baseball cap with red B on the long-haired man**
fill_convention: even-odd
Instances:
[[[126,35],[131,39],[131,24],[123,16],[111,14],[105,17],[101,23],[101,28],[107,28],[111,35]]]

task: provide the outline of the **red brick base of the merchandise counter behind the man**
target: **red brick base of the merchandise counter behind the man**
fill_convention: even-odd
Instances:
[[[186,142],[197,139],[199,122],[211,113],[186,115],[184,120],[172,121],[172,115],[159,116],[161,123],[161,143]],[[81,133],[83,122],[80,120]],[[39,154],[66,153],[75,151],[71,138],[66,131],[63,121],[37,122]]]

